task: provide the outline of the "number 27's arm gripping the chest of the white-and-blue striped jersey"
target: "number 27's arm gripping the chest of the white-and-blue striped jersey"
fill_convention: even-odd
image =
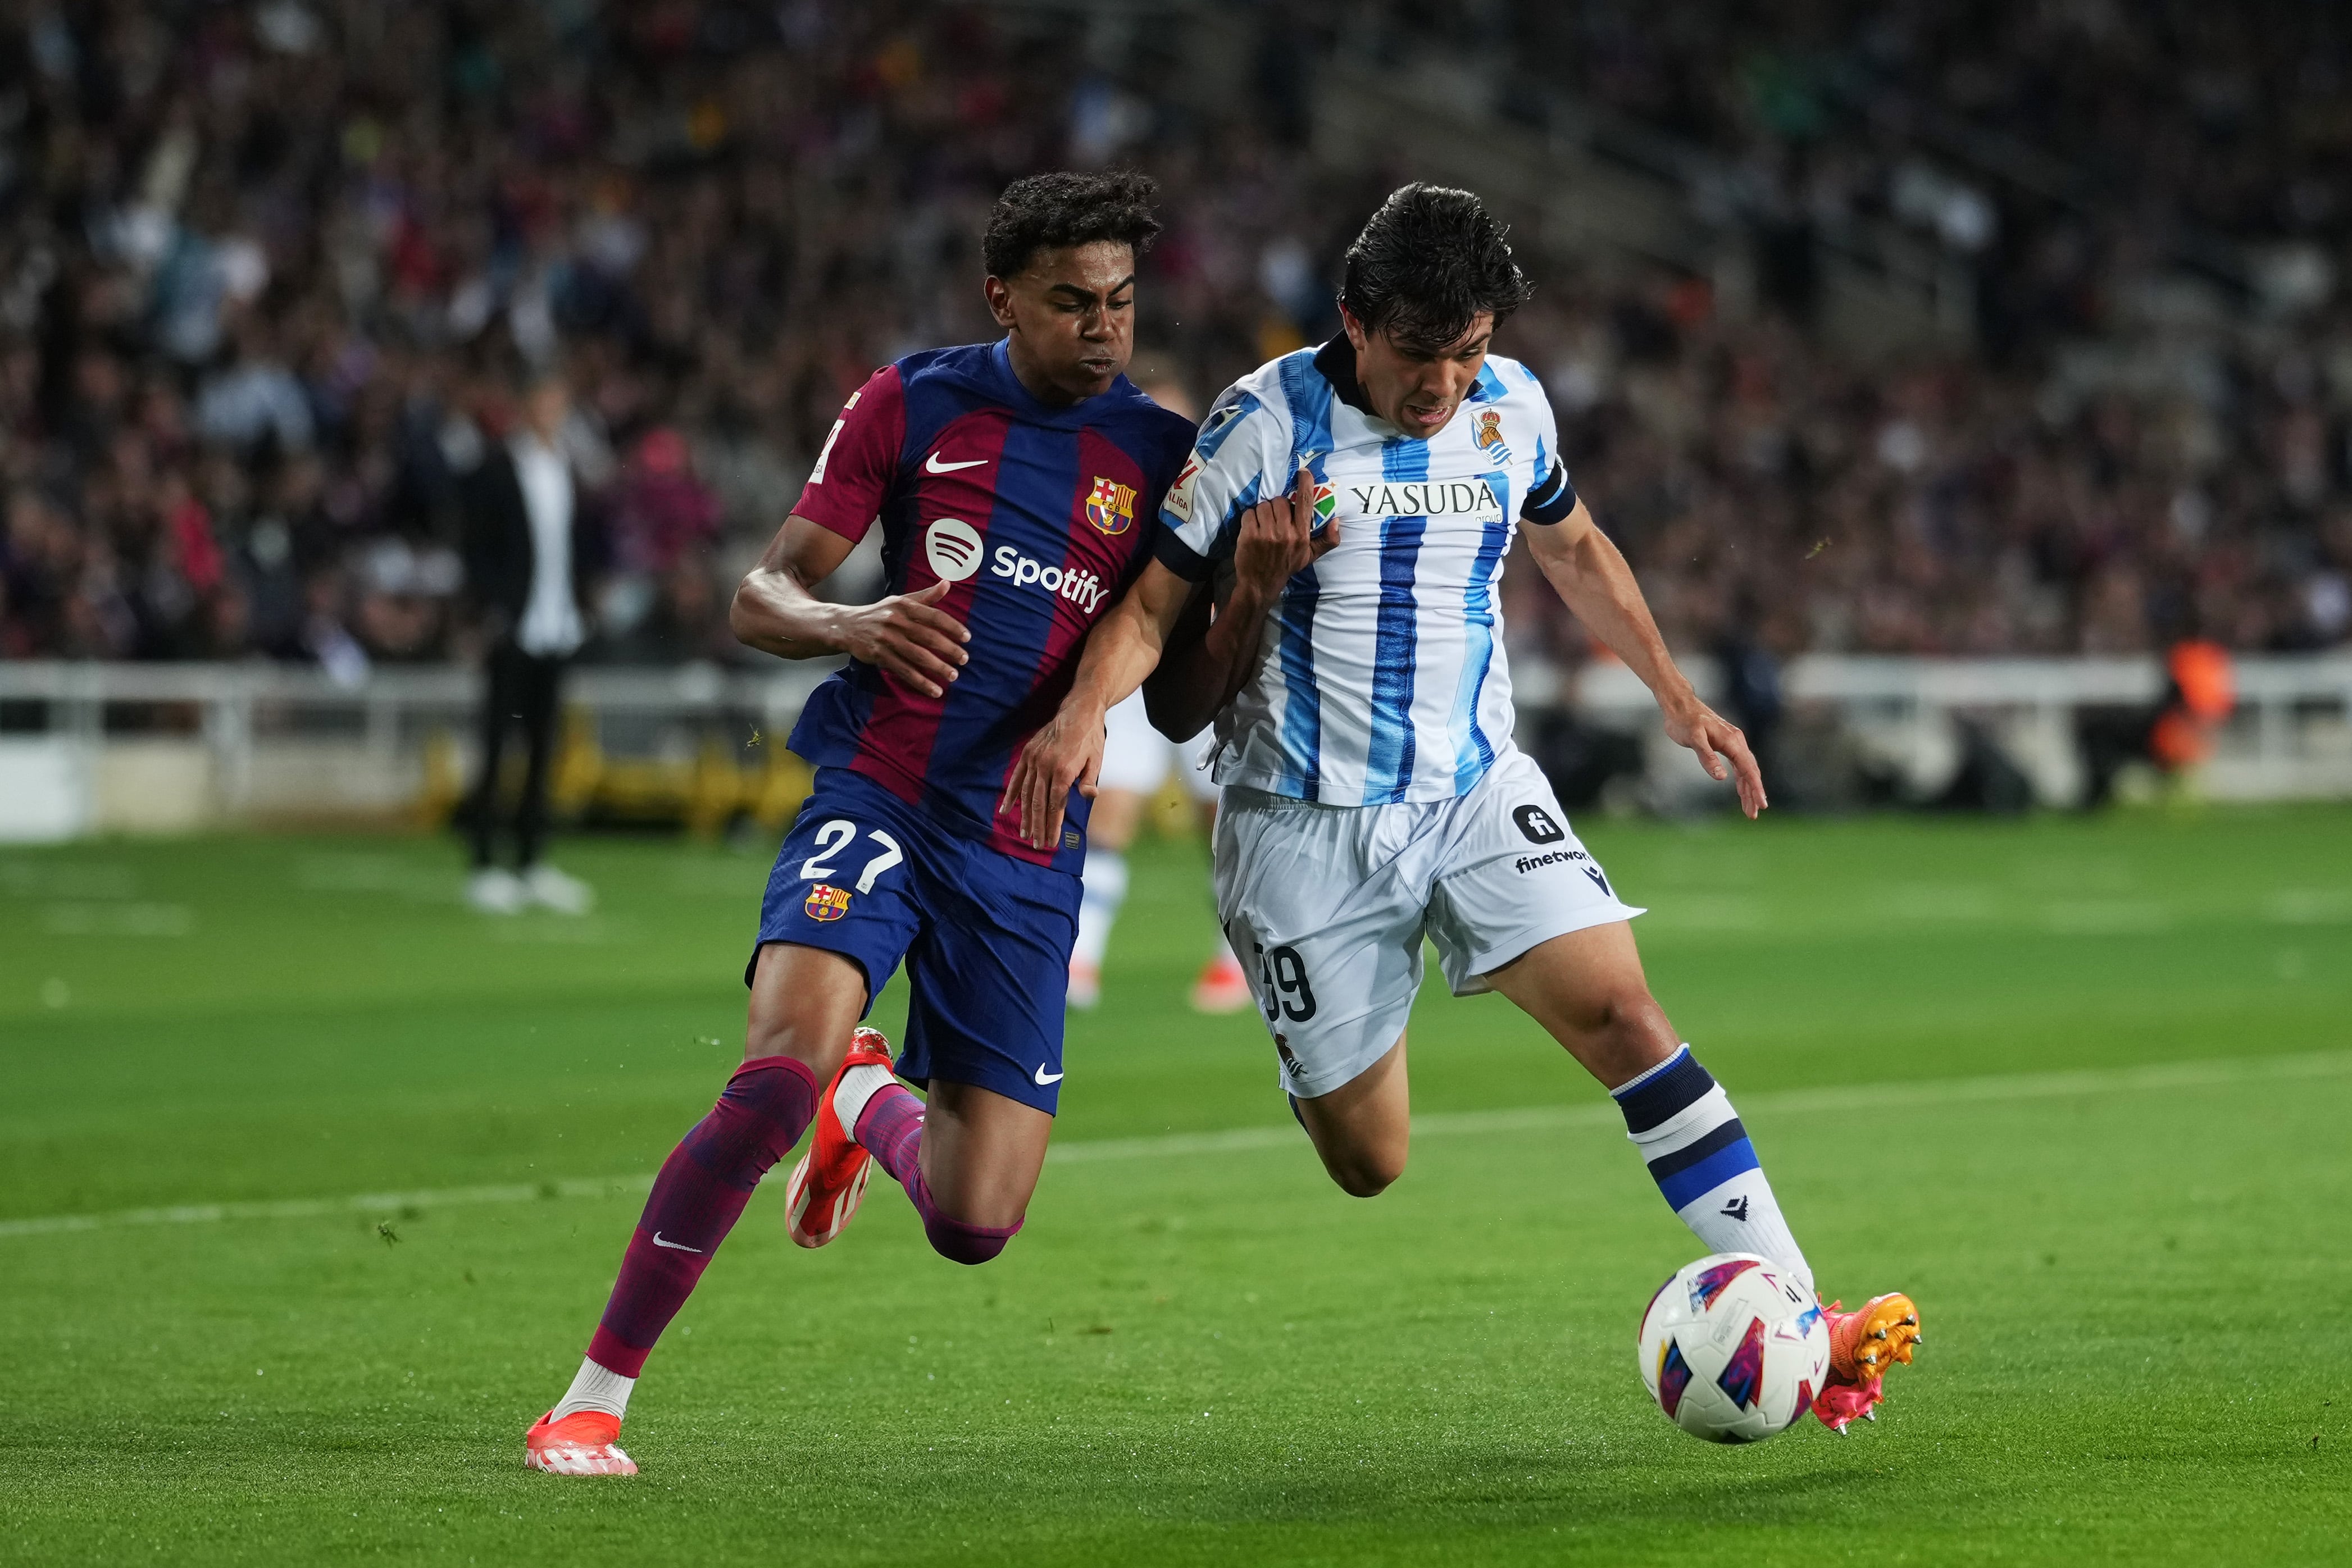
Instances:
[[[1232,592],[1216,607],[1207,635],[1176,635],[1143,686],[1152,726],[1169,741],[1190,741],[1249,684],[1265,649],[1265,616],[1282,588],[1338,545],[1338,517],[1315,531],[1315,475],[1298,470],[1287,496],[1242,512],[1232,541]]]

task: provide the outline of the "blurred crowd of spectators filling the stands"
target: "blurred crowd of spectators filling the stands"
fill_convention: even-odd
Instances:
[[[2042,303],[1893,362],[1835,353],[1802,310],[1729,310],[1700,277],[1529,254],[1538,303],[1501,348],[1545,378],[1576,484],[1677,646],[2352,637],[2352,317],[2331,289],[2194,390],[2072,395],[2049,357],[2112,324],[2100,268],[2147,223],[2343,259],[2352,96],[2314,63],[2340,49],[2213,21],[2070,54],[2034,21],[2138,12],[2103,0],[1997,5],[2020,14],[2004,47],[1952,35],[1971,7],[1867,7],[1907,31],[1813,16],[1879,54],[1804,35],[1820,47],[1776,54],[1752,7],[1522,9],[1428,14],[1557,35],[1571,85],[1813,195],[1891,188],[1839,150],[1863,141],[1839,125],[1870,125],[1837,89],[1851,71],[1809,63],[1858,56],[2096,167],[2161,146],[2194,174],[2122,190],[2140,228],[1980,214],[1947,237],[2011,256],[1987,275]],[[1338,252],[1390,181],[1317,169],[1301,85],[1355,12],[1232,7],[1256,78],[1211,113],[1164,28],[1037,7],[0,2],[0,656],[358,679],[466,654],[461,480],[515,388],[560,367],[604,541],[590,656],[741,658],[727,592],[842,397],[894,355],[993,336],[976,237],[1007,179],[1160,176],[1134,374],[1167,400],[1204,407],[1336,329]],[[2249,129],[2211,150],[2216,118]],[[1515,639],[1583,656],[1531,585],[1512,574]]]

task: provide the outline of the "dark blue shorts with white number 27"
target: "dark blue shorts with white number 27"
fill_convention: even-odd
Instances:
[[[821,769],[767,875],[760,947],[851,959],[868,1009],[903,959],[913,994],[898,1074],[976,1084],[1054,1114],[1077,896],[1070,872],[1014,860],[870,778]]]

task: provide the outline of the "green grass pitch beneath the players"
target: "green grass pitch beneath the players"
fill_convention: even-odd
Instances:
[[[1011,1251],[877,1185],[800,1253],[771,1187],[644,1474],[529,1474],[767,858],[564,844],[602,910],[489,922],[437,842],[7,849],[0,1561],[2352,1556],[2352,811],[1585,827],[1823,1286],[1922,1302],[1851,1439],[1644,1399],[1698,1246],[1498,999],[1423,997],[1414,1164],[1331,1187],[1157,844]]]

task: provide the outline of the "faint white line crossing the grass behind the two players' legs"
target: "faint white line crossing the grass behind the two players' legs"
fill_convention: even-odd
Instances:
[[[2256,1056],[2150,1067],[2093,1067],[2079,1072],[2013,1072],[1980,1079],[1924,1079],[1912,1084],[1851,1084],[1846,1088],[1783,1088],[1740,1095],[1740,1117],[1900,1110],[1917,1105],[1969,1105],[1985,1100],[2051,1100],[2093,1093],[2147,1093],[2166,1088],[2220,1088],[2279,1079],[2333,1079],[2352,1074],[2352,1051],[2305,1056]],[[1524,1105],[1517,1110],[1435,1112],[1414,1117],[1416,1138],[1463,1133],[1526,1133],[1569,1126],[1613,1126],[1616,1105]],[[1296,1126],[1237,1126],[1221,1133],[1164,1133],[1157,1138],[1087,1138],[1047,1150],[1049,1166],[1103,1159],[1176,1159],[1185,1154],[1247,1154],[1303,1140]],[[781,1166],[779,1166],[781,1171]],[[219,1220],[315,1220],[325,1215],[397,1215],[402,1208],[454,1208],[473,1204],[534,1204],[543,1199],[635,1197],[652,1175],[607,1175],[560,1182],[503,1182],[492,1187],[437,1187],[426,1192],[355,1192],[339,1199],[275,1199],[254,1204],[176,1204],[169,1208],[118,1208],[113,1213],[61,1213],[0,1220],[0,1239],[54,1237],[129,1225],[212,1225]]]

